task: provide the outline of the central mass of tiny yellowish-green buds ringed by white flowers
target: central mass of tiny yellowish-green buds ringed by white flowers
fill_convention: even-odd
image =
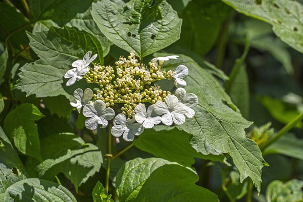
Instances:
[[[115,67],[94,65],[83,78],[87,83],[96,83],[100,89],[93,94],[93,99],[102,100],[107,107],[122,104],[121,111],[130,119],[135,107],[140,103],[155,104],[164,101],[169,91],[162,90],[153,82],[171,79],[173,71],[162,69],[157,59],[151,60],[147,68],[138,63],[134,52],[130,56],[119,58]]]

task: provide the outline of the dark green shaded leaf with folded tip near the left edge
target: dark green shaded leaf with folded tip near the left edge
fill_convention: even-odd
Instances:
[[[41,160],[40,140],[34,121],[42,117],[44,115],[37,107],[26,103],[10,111],[4,121],[4,130],[9,138],[14,140],[18,150],[38,160]]]

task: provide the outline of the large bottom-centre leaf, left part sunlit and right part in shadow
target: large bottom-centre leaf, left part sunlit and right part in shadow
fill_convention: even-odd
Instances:
[[[195,185],[190,168],[160,158],[126,162],[116,177],[120,201],[218,201],[213,192]]]

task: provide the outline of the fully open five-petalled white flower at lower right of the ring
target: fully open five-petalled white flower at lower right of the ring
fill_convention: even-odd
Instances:
[[[166,103],[166,104],[165,104]],[[165,103],[162,101],[158,101],[155,104],[155,112],[161,117],[162,123],[165,125],[172,125],[175,123],[176,125],[181,125],[185,123],[184,114],[187,112],[186,106],[179,102],[178,98],[175,95],[168,94],[165,97]]]

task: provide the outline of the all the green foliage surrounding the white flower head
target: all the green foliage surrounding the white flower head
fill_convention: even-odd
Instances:
[[[0,202],[301,201],[302,3],[0,2]],[[70,102],[99,85],[67,87],[64,75],[88,51],[115,74],[130,51],[147,67],[178,55],[162,67],[188,68],[194,117],[145,128],[132,143],[111,135],[112,121],[86,129]],[[165,76],[157,82],[174,94]],[[115,115],[131,110],[122,103]]]

